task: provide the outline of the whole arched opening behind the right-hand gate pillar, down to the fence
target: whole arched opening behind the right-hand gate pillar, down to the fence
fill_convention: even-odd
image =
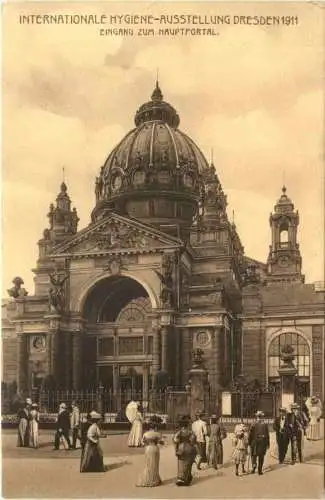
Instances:
[[[285,345],[294,349],[293,363],[297,369],[295,396],[300,400],[310,395],[311,356],[307,340],[299,333],[280,333],[271,341],[267,356],[269,384],[280,385],[278,369],[281,364],[281,349]]]

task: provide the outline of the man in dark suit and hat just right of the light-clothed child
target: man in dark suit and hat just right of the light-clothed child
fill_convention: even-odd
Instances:
[[[260,476],[263,474],[265,454],[270,447],[269,428],[263,421],[263,417],[264,413],[262,411],[256,412],[256,422],[252,425],[248,436],[252,456],[252,474],[255,473],[258,462],[258,474]]]

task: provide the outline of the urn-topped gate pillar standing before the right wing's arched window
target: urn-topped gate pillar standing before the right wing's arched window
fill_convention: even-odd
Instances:
[[[288,408],[295,400],[295,384],[297,368],[293,364],[294,350],[291,346],[283,346],[281,350],[282,364],[278,369],[281,379],[281,406]]]

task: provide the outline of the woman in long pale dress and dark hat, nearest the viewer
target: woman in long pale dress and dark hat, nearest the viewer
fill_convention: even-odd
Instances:
[[[158,432],[158,426],[161,422],[162,419],[160,417],[153,415],[149,421],[149,430],[143,435],[142,443],[145,446],[145,466],[137,486],[152,488],[161,484],[159,475],[159,444],[164,444],[161,433]]]

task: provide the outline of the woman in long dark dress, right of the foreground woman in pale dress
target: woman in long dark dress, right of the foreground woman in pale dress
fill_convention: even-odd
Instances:
[[[184,415],[179,421],[180,430],[173,441],[177,456],[177,486],[189,486],[192,482],[192,465],[196,457],[196,437],[189,428],[191,417]]]

